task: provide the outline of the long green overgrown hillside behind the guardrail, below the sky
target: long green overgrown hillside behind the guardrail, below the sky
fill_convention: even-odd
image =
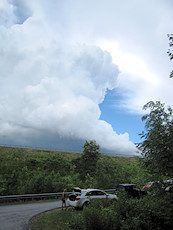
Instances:
[[[81,153],[0,147],[0,195],[71,191],[74,186],[113,188],[135,181],[135,157],[101,154],[92,175],[81,179],[76,159]],[[132,170],[135,168],[135,171]],[[129,171],[133,173],[129,174]],[[135,178],[136,175],[135,175]]]

